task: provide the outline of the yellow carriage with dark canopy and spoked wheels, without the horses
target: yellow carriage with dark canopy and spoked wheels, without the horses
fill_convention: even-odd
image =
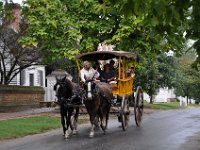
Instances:
[[[134,115],[136,125],[139,126],[143,114],[143,92],[139,86],[136,88],[134,95],[134,68],[137,56],[131,52],[125,51],[95,51],[80,54],[77,57],[77,66],[80,71],[81,61],[108,61],[116,60],[116,82],[111,82],[112,93],[117,98],[118,105],[118,120],[122,123],[122,128],[125,131],[129,122],[129,104],[134,106]],[[132,68],[132,74],[129,72]]]

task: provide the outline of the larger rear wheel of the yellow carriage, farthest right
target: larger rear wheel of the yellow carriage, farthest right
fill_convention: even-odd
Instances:
[[[135,114],[135,123],[139,127],[142,121],[143,115],[143,91],[142,88],[139,86],[137,87],[137,91],[135,94],[135,104],[134,104],[134,114]]]

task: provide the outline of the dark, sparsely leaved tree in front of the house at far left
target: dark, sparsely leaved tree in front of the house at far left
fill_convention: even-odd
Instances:
[[[37,63],[40,54],[37,48],[24,48],[19,40],[26,34],[27,24],[21,20],[20,30],[15,28],[13,22],[13,9],[19,5],[7,3],[1,7],[0,25],[0,84],[9,84],[23,69]]]

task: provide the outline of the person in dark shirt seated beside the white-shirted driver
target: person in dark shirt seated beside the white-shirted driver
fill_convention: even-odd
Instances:
[[[110,81],[114,81],[116,79],[114,71],[110,70],[110,65],[104,65],[104,71],[101,74],[101,81],[109,83]]]

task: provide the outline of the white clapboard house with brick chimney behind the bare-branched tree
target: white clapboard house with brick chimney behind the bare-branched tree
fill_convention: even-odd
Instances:
[[[9,21],[5,21],[6,28],[12,29],[14,32],[18,33],[20,31],[20,23],[21,23],[21,6],[17,3],[7,4],[12,9],[13,19]],[[9,71],[12,67],[13,61],[15,60],[14,53],[10,52],[11,50],[5,46],[3,39],[0,39],[0,53],[3,55],[3,61],[0,61],[0,67],[6,68],[6,71]],[[5,40],[5,39],[4,39]],[[9,40],[7,40],[9,41]],[[6,48],[5,48],[6,47]],[[28,57],[28,56],[27,56]],[[19,66],[15,66],[14,70],[19,68]],[[17,69],[16,69],[17,71]],[[7,73],[7,72],[6,72]],[[13,72],[15,74],[16,72]],[[1,75],[0,75],[1,77]],[[9,83],[10,85],[21,85],[21,86],[42,86],[45,87],[45,66],[44,65],[32,65],[26,69],[23,69],[19,72]]]

